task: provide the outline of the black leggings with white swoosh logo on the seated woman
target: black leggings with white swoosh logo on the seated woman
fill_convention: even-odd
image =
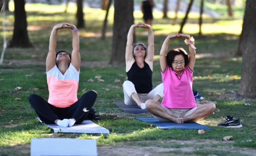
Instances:
[[[46,124],[55,124],[56,119],[76,119],[76,124],[81,124],[88,114],[83,109],[90,110],[97,98],[97,93],[94,90],[86,92],[73,105],[65,108],[55,107],[49,104],[41,96],[32,94],[29,95],[28,101],[32,108],[36,111],[39,118]]]

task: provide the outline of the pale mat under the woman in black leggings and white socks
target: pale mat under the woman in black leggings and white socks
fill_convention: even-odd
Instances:
[[[54,133],[105,133],[109,134],[109,130],[101,127],[91,120],[84,120],[81,124],[74,124],[72,127],[62,127],[57,124],[45,124],[39,117],[37,119],[44,125],[54,130]]]

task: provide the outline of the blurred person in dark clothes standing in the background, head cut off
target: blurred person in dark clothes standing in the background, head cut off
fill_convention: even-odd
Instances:
[[[148,25],[152,25],[153,21],[153,7],[155,3],[153,0],[146,0],[141,2],[141,11],[143,13],[144,23]]]

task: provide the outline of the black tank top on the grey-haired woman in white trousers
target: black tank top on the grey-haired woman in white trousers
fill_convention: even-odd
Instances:
[[[152,90],[152,73],[149,65],[145,61],[143,68],[140,68],[135,61],[126,74],[128,80],[135,85],[137,93],[144,94]]]

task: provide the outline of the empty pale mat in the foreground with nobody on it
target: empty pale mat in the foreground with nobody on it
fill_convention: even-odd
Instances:
[[[97,156],[95,139],[32,138],[31,156]]]

